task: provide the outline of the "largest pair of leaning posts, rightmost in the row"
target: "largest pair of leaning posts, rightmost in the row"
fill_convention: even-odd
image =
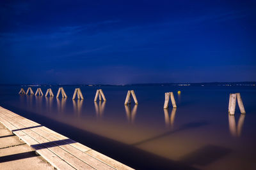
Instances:
[[[236,99],[237,99],[237,103],[238,103],[240,112],[241,112],[242,114],[245,114],[244,105],[243,105],[243,101],[242,101],[242,99],[241,99],[240,93],[230,94],[230,95],[229,95],[228,113],[229,113],[230,115],[234,115],[234,114],[235,114],[235,110],[236,110]]]

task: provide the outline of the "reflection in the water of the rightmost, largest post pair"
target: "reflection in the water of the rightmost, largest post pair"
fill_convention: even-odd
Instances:
[[[229,124],[229,131],[230,134],[234,137],[239,137],[241,136],[241,132],[243,129],[243,124],[244,124],[244,118],[245,115],[241,114],[238,120],[238,124],[236,127],[236,119],[234,115],[228,115],[228,124]]]

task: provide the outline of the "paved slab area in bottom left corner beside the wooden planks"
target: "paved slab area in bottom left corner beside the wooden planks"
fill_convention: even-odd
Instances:
[[[0,124],[0,169],[53,169],[24,141]]]

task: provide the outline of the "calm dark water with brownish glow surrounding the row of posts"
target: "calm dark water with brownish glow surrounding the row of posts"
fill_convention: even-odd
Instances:
[[[54,97],[36,97],[1,86],[0,105],[136,169],[256,169],[256,87],[81,86],[84,101],[72,101],[77,86],[63,87],[67,99],[51,88]],[[106,102],[93,102],[97,89]],[[127,90],[138,106],[124,106]],[[164,92],[177,110],[163,109]],[[241,93],[245,115],[237,105],[228,116],[231,92]]]

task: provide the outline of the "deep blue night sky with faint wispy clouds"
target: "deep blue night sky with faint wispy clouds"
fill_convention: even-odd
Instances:
[[[256,1],[0,5],[0,83],[256,81]]]

